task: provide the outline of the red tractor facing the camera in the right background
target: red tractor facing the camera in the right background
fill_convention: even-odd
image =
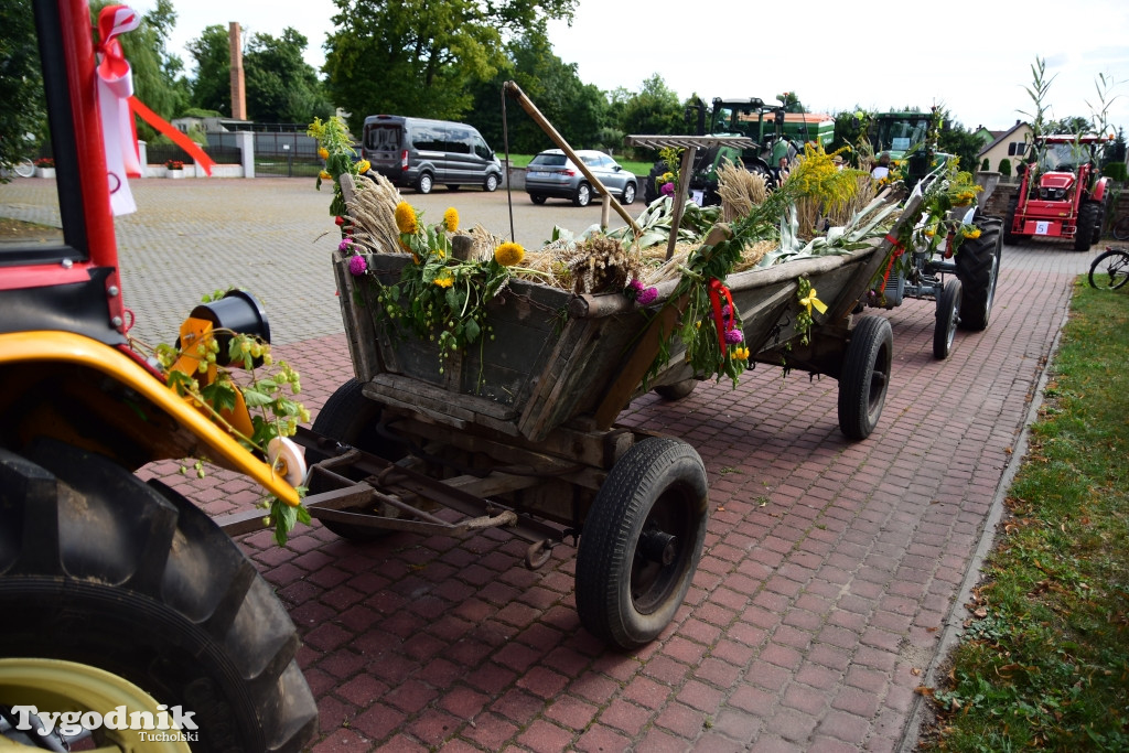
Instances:
[[[1004,240],[1047,237],[1074,240],[1089,251],[1102,236],[1109,196],[1106,177],[1099,177],[1099,135],[1045,135],[1035,139],[1036,159],[1024,165],[1019,190],[1007,210]]]

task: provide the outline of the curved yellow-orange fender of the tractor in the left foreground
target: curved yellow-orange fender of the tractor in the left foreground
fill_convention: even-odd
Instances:
[[[19,362],[75,364],[105,374],[135,391],[194,435],[209,450],[208,459],[246,474],[287,505],[299,504],[298,492],[283,478],[285,470],[275,470],[261,461],[121,350],[72,332],[0,334],[0,366]]]

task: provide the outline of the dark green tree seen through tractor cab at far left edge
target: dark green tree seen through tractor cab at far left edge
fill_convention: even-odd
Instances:
[[[46,105],[30,0],[0,0],[0,165],[29,157],[25,133],[46,135]]]

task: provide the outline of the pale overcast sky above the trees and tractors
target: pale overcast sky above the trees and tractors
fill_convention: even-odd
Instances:
[[[139,1],[145,12],[154,2]],[[205,26],[238,21],[279,36],[292,26],[309,40],[307,61],[324,62],[331,0],[174,0],[172,50]],[[921,14],[936,8],[944,16]],[[927,38],[925,35],[929,34]],[[1129,5],[1124,0],[981,0],[968,3],[807,0],[580,0],[571,28],[550,27],[554,53],[580,80],[638,91],[658,73],[680,99],[761,97],[795,91],[812,112],[856,106],[945,106],[966,128],[1004,130],[1033,112],[1024,90],[1035,56],[1054,76],[1052,117],[1088,117],[1100,73],[1124,81],[1110,121],[1129,128]],[[1111,96],[1112,96],[1111,95]],[[1088,103],[1088,104],[1087,104]],[[347,103],[339,103],[348,108]]]

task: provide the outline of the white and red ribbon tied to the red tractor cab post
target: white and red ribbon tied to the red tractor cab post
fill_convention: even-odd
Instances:
[[[117,36],[132,32],[141,17],[125,6],[106,6],[98,14],[98,110],[102,112],[102,138],[106,148],[106,169],[110,173],[110,207],[113,213],[137,211],[128,177],[141,176],[138,157],[138,137],[133,115],[139,115],[195,160],[205,175],[211,175],[216,163],[192,139],[149,110],[133,96],[133,72],[122,53]]]

